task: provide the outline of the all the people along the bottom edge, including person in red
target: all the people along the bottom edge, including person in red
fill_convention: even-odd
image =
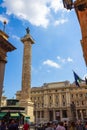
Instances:
[[[35,127],[36,130],[87,130],[87,122],[82,124],[81,121],[77,122],[59,122],[43,124],[40,127]],[[20,130],[19,124],[16,120],[11,120],[8,124],[4,120],[1,121],[0,130]],[[22,130],[30,130],[30,125],[27,121],[22,126]]]

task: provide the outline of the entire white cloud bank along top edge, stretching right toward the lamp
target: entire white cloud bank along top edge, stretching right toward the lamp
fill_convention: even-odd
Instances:
[[[62,0],[4,0],[2,7],[6,7],[8,15],[14,14],[19,19],[45,28],[50,23],[51,11],[64,10]],[[62,19],[56,24],[64,22]]]

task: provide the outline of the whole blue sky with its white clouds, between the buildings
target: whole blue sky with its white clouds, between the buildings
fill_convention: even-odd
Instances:
[[[31,86],[74,81],[74,70],[81,78],[87,73],[80,44],[80,25],[74,9],[63,8],[62,0],[1,0],[0,29],[6,20],[6,33],[17,49],[7,54],[4,95],[15,97],[21,90],[23,44],[20,38],[30,28],[32,45]]]

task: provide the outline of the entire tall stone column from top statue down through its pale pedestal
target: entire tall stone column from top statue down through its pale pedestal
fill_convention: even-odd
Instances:
[[[21,38],[24,44],[23,68],[22,68],[22,91],[20,105],[25,107],[25,113],[30,116],[30,120],[34,121],[33,109],[34,104],[30,100],[31,89],[31,49],[34,40],[30,35],[29,28],[26,29],[26,35]]]

